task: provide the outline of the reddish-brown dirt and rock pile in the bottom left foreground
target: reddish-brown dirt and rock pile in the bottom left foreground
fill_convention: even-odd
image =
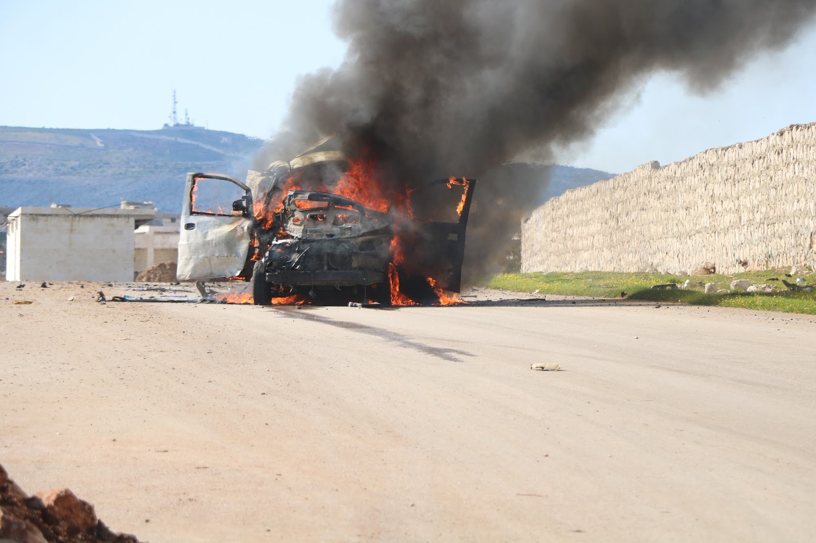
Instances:
[[[96,518],[94,506],[68,488],[27,496],[0,466],[0,541],[16,543],[139,543],[135,536],[111,532]]]

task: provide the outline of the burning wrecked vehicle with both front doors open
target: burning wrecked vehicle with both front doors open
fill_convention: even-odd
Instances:
[[[246,183],[190,173],[178,278],[249,281],[256,305],[451,302],[474,187],[450,178],[394,191],[330,142]]]

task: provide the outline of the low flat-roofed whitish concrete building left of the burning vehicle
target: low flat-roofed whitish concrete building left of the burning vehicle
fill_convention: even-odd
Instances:
[[[6,279],[131,281],[134,230],[155,214],[21,207],[8,216]]]

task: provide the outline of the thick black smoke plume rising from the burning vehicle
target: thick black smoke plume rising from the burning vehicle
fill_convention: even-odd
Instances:
[[[544,188],[497,166],[587,138],[650,73],[712,90],[786,46],[816,0],[339,0],[334,10],[347,56],[299,80],[259,161],[339,135],[397,186],[475,177],[468,252],[486,263]]]

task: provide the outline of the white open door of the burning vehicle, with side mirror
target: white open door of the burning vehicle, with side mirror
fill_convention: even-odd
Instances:
[[[250,249],[252,193],[221,174],[187,174],[179,238],[179,280],[238,276]]]

